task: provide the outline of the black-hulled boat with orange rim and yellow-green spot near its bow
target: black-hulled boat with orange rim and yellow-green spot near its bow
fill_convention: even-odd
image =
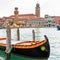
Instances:
[[[50,55],[50,44],[45,35],[43,41],[25,41],[12,44],[12,53],[33,58],[48,58]],[[0,43],[0,50],[5,51],[6,44]],[[7,51],[8,53],[8,51]]]

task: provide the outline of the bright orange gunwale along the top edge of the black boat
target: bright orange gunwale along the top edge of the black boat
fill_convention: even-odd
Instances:
[[[47,40],[43,40],[39,43],[36,43],[36,44],[32,44],[32,45],[20,45],[20,44],[15,44],[15,45],[12,45],[13,48],[17,48],[17,49],[31,49],[31,48],[36,48],[38,46],[42,46],[43,44],[45,44],[47,42]],[[6,47],[6,44],[0,44],[0,46],[2,47]]]

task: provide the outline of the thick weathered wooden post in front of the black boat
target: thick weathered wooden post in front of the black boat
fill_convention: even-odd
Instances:
[[[10,25],[7,22],[6,23],[6,29],[7,29],[7,40],[6,40],[6,60],[10,60],[10,56],[11,56],[11,29],[10,29]]]

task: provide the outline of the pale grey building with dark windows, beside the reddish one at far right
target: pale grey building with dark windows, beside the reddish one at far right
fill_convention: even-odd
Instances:
[[[49,15],[45,15],[44,25],[46,27],[56,27],[55,18]]]

